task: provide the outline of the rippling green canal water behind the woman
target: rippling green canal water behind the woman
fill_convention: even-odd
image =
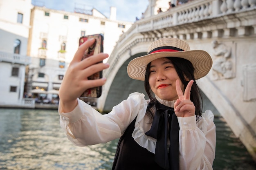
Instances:
[[[256,170],[256,164],[225,121],[215,118],[214,170]],[[56,110],[0,108],[0,170],[111,170],[118,140],[74,146]]]

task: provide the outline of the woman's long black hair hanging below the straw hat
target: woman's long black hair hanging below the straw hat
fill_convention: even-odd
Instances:
[[[171,60],[171,62],[173,63],[173,66],[177,71],[177,74],[180,77],[182,84],[184,84],[184,89],[189,83],[189,81],[186,81],[186,78],[189,80],[191,79],[194,80],[193,85],[191,87],[191,91],[190,91],[190,100],[195,105],[195,115],[201,116],[202,115],[202,96],[199,91],[198,85],[195,82],[194,68],[192,63],[189,60],[179,58],[179,57],[166,57],[166,58],[168,60]],[[148,115],[148,117],[152,121],[154,117],[152,107],[155,105],[156,99],[152,96],[153,92],[151,91],[151,88],[148,82],[149,73],[150,73],[150,64],[151,62],[147,65],[147,68],[146,68],[144,88],[150,99],[150,102],[146,110],[146,115]]]

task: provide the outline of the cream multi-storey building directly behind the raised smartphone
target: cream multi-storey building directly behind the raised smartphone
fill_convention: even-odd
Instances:
[[[75,13],[45,7],[31,10],[31,29],[27,55],[31,64],[27,72],[25,91],[58,90],[65,71],[83,35],[102,33],[104,53],[110,54],[119,36],[130,28],[131,22],[117,21],[116,8],[110,8],[110,18],[96,9],[76,9]],[[48,94],[50,99],[51,94]]]

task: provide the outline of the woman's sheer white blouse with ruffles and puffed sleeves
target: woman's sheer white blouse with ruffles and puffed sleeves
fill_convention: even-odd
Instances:
[[[175,101],[167,102],[157,97],[166,106],[173,107]],[[78,100],[72,112],[63,113],[59,105],[60,124],[67,138],[76,146],[88,146],[120,138],[135,119],[134,140],[141,146],[155,152],[156,139],[145,135],[151,124],[146,115],[149,100],[144,94],[132,93],[128,99],[102,115],[85,102]],[[207,110],[202,117],[178,117],[180,126],[180,170],[212,170],[215,158],[216,127],[213,113]]]

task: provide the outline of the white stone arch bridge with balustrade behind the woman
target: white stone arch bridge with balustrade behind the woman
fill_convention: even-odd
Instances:
[[[180,38],[191,49],[211,55],[211,71],[198,80],[204,108],[227,121],[256,161],[255,5],[255,0],[193,0],[136,21],[109,57],[98,109],[109,111],[135,91],[146,95],[144,82],[128,77],[127,64],[145,55],[149,44],[159,38]]]

